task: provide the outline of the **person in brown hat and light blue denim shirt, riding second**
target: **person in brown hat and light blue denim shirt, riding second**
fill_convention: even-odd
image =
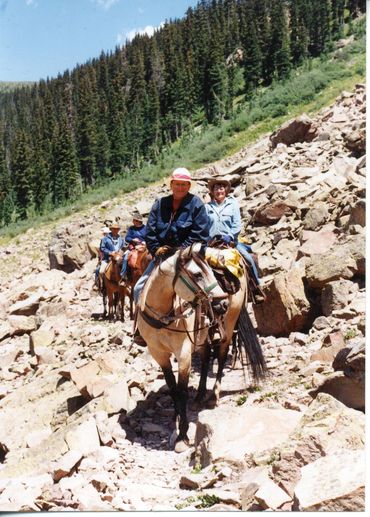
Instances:
[[[230,195],[231,183],[224,178],[211,178],[208,181],[211,201],[206,204],[209,217],[209,236],[220,236],[226,244],[234,243],[239,253],[250,264],[257,286],[260,284],[257,267],[251,256],[252,248],[238,240],[242,228],[240,208],[234,196]],[[263,301],[260,294],[256,294],[256,301]]]

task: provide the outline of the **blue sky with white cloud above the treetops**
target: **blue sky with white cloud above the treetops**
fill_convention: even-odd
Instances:
[[[0,81],[38,81],[182,18],[197,0],[0,0]]]

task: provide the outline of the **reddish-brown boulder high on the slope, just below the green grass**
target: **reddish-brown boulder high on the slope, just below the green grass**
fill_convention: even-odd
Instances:
[[[277,131],[272,133],[270,140],[274,148],[280,143],[292,145],[296,142],[312,142],[317,134],[317,124],[310,117],[303,114],[294,120],[285,122]]]

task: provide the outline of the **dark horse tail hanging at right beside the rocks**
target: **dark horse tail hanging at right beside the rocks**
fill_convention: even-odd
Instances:
[[[263,351],[258,340],[256,329],[254,328],[245,304],[243,304],[237,322],[239,347],[243,347],[248,360],[248,369],[253,375],[253,380],[259,382],[267,372],[267,366]]]

